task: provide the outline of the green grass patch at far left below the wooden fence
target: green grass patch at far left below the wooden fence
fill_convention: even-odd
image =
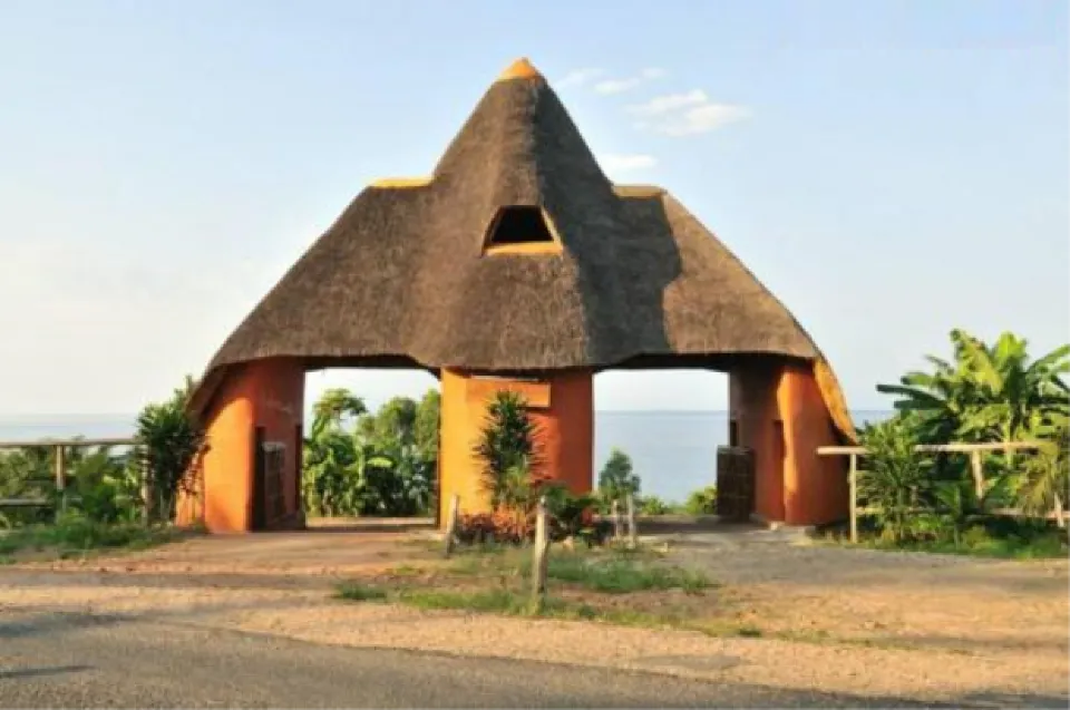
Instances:
[[[168,527],[136,523],[106,524],[84,517],[62,518],[55,525],[28,525],[0,535],[0,556],[54,551],[62,560],[99,549],[146,549],[183,535]]]

